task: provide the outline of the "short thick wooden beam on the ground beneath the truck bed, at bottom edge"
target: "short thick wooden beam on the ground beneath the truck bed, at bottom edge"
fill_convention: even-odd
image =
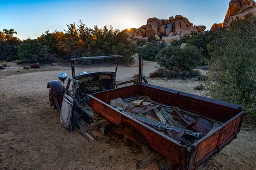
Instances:
[[[136,162],[136,168],[137,170],[141,170],[148,165],[159,161],[161,159],[160,153],[153,151],[151,153],[148,153],[146,156],[142,157],[140,160]]]

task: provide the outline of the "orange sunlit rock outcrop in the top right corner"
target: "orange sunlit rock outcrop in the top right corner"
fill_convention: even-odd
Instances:
[[[254,0],[231,0],[223,23],[213,24],[211,30],[219,27],[230,27],[230,23],[236,18],[244,19],[249,13],[256,15],[256,2]]]

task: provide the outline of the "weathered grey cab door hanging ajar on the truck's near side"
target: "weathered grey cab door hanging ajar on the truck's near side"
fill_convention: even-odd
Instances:
[[[70,86],[70,83],[72,85]],[[74,114],[76,109],[76,103],[78,98],[80,81],[75,79],[68,79],[67,88],[63,97],[61,106],[61,124],[67,128],[70,132],[73,129]]]

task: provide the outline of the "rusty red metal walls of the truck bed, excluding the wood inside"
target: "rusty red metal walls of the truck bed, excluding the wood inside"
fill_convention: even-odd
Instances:
[[[184,111],[223,122],[223,124],[192,144],[191,152],[188,155],[186,145],[108,105],[113,99],[119,97],[125,99],[132,96],[148,96],[155,102],[175,106]],[[104,91],[89,95],[89,97],[93,111],[108,119],[115,128],[122,130],[123,133],[168,159],[174,160],[180,170],[198,169],[200,164],[236,139],[245,114],[244,106],[146,83]]]

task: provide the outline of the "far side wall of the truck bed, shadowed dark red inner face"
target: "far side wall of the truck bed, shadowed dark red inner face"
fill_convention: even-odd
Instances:
[[[146,83],[140,85],[140,95],[149,96],[156,102],[176,106],[185,111],[203,115],[221,122],[227,122],[244,110],[244,106],[221,102]]]

